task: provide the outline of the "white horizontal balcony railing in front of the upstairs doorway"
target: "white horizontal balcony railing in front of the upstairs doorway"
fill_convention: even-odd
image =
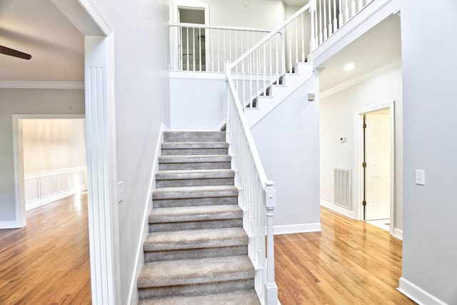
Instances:
[[[224,72],[233,61],[251,48],[270,29],[207,24],[169,24],[170,70]]]

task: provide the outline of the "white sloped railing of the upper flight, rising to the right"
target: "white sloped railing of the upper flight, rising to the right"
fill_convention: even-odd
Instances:
[[[257,96],[268,95],[271,84],[281,84],[283,74],[307,61],[316,45],[308,42],[315,33],[314,14],[306,4],[229,66],[243,106],[257,107]]]

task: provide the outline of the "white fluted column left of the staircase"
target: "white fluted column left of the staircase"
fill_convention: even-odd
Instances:
[[[92,304],[120,304],[114,35],[85,36],[86,150]],[[108,64],[109,63],[109,64]]]

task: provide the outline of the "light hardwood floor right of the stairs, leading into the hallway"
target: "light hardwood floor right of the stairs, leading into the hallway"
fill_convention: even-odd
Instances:
[[[322,232],[275,236],[278,297],[289,304],[416,304],[396,291],[401,241],[321,208]]]

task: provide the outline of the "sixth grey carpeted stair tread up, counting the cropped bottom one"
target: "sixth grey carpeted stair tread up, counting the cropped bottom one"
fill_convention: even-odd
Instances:
[[[233,178],[234,176],[235,171],[231,169],[182,169],[158,171],[156,180]]]

